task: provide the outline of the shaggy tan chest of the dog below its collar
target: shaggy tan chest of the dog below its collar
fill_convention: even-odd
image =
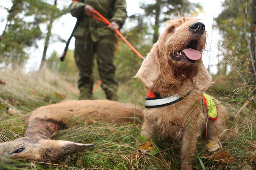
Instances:
[[[197,122],[198,114],[202,114],[201,103],[194,100],[188,104],[188,100],[181,100],[170,106],[147,109],[144,118],[152,122],[158,133],[163,136],[182,136],[184,130]]]

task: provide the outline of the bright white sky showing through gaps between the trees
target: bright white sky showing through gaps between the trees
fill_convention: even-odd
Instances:
[[[145,0],[147,3],[153,2],[153,0]],[[200,2],[203,6],[204,14],[200,14],[198,18],[202,19],[203,23],[206,26],[206,30],[208,32],[208,49],[207,53],[204,54],[204,63],[208,67],[208,57],[212,57],[212,62],[214,63],[214,53],[217,51],[217,42],[220,39],[218,32],[213,30],[212,31],[212,23],[213,23],[213,17],[217,17],[218,14],[221,12],[221,2],[223,0],[217,0],[217,1],[203,1],[203,0],[190,0],[190,2],[198,3]],[[134,13],[143,13],[143,10],[139,8],[139,3],[142,1],[138,0],[127,0],[127,12],[128,16],[133,15]],[[11,0],[7,0],[2,4],[2,7],[10,8],[12,5]],[[0,32],[4,30],[4,26],[6,24],[6,16],[7,11],[3,10],[3,8],[0,9]],[[71,14],[66,14],[62,16],[60,19],[56,20],[53,23],[52,33],[60,35],[60,37],[64,40],[67,40],[73,30],[73,27],[76,23],[76,19],[71,16]],[[124,27],[128,27],[127,23],[124,25]],[[46,28],[45,28],[46,30]],[[160,28],[160,33],[162,29]],[[44,40],[40,40],[37,42],[38,48],[29,48],[27,49],[30,53],[30,59],[27,61],[26,64],[26,70],[37,70],[39,68],[40,62],[41,62],[41,56],[42,51],[44,48]],[[65,43],[63,42],[53,42],[50,43],[47,51],[47,57],[51,55],[51,53],[56,50],[59,54],[62,53],[64,50]],[[74,38],[72,38],[70,45],[70,49],[74,49]],[[216,61],[217,63],[217,61]],[[211,70],[213,73],[216,72],[215,68]]]

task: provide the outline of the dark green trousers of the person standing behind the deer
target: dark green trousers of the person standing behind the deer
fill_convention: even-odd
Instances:
[[[91,40],[76,39],[75,61],[79,69],[78,88],[80,100],[93,99],[93,67],[94,56],[97,59],[98,71],[101,78],[101,87],[108,100],[117,100],[118,83],[115,80],[114,51],[115,41],[108,39],[92,42]]]

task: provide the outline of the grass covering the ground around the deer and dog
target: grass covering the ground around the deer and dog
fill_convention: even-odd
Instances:
[[[57,73],[44,70],[42,73],[27,73],[21,70],[0,70],[0,142],[23,136],[27,127],[25,115],[37,107],[49,103],[60,102],[61,98],[55,92],[65,95],[66,99],[77,99],[75,91],[76,78],[66,79]],[[254,87],[254,86],[252,86]],[[248,88],[247,88],[248,89]],[[216,93],[212,89],[209,93]],[[129,80],[120,84],[118,95],[120,102],[131,102],[143,107],[146,91],[136,82]],[[222,149],[214,153],[205,150],[205,140],[200,137],[197,153],[194,157],[194,169],[242,169],[256,168],[256,123],[255,103],[250,101],[251,93],[244,89],[236,90],[236,94],[216,96],[228,110],[227,130],[222,134]],[[95,99],[105,99],[99,87],[94,93]],[[11,107],[19,111],[10,115],[6,108]],[[78,125],[60,130],[54,137],[57,140],[93,143],[95,147],[83,153],[72,154],[61,163],[46,164],[39,162],[2,163],[0,169],[91,169],[91,170],[153,170],[179,169],[179,143],[171,139],[153,139],[153,152],[144,153],[139,150],[143,143],[140,136],[141,125],[125,124],[121,127],[96,120],[88,124],[86,121]],[[222,156],[220,155],[222,153]],[[215,158],[213,157],[215,156]],[[229,161],[228,161],[229,160]]]

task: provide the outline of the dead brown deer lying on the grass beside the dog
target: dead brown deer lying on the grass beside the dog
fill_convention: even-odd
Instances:
[[[0,143],[0,162],[8,159],[54,163],[64,156],[83,151],[93,144],[51,140],[54,134],[77,120],[96,118],[118,125],[142,117],[142,109],[133,104],[109,100],[66,101],[42,106],[28,114],[25,137]],[[77,118],[77,119],[76,119]]]

